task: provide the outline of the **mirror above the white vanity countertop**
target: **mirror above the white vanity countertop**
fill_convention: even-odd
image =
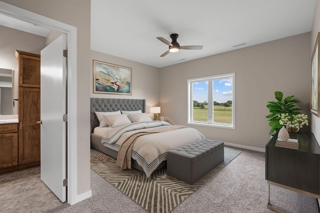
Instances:
[[[13,77],[13,70],[0,68],[0,115],[17,114],[16,103],[13,106],[13,98],[17,97]]]

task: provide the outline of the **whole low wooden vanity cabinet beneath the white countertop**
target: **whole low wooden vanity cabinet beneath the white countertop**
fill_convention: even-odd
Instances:
[[[18,124],[0,124],[0,169],[18,165]]]

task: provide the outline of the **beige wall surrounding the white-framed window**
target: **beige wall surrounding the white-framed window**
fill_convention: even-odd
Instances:
[[[235,72],[236,129],[190,127],[209,139],[264,149],[270,139],[266,104],[275,100],[275,91],[294,95],[302,113],[310,116],[309,43],[310,32],[161,68],[161,115],[186,125],[186,80]]]

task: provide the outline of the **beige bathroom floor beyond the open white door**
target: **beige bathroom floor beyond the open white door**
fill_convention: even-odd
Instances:
[[[0,175],[0,213],[43,213],[60,205],[40,180],[40,166]]]

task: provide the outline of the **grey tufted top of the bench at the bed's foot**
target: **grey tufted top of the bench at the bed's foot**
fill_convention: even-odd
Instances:
[[[224,144],[221,141],[200,139],[168,152],[178,155],[187,161],[195,162],[223,146]]]

